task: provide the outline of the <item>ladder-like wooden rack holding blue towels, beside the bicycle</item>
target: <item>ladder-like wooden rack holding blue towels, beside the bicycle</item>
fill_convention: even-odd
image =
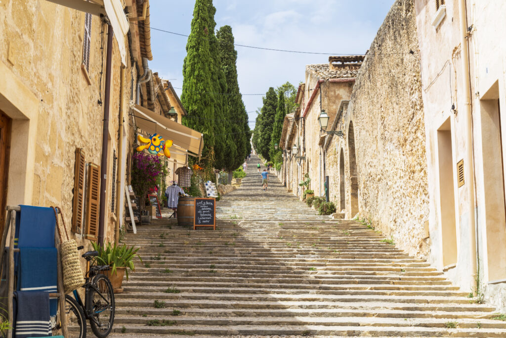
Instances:
[[[4,233],[2,235],[2,243],[0,244],[0,266],[4,269],[4,251],[6,248],[7,235],[10,230],[9,238],[9,282],[7,299],[7,311],[9,323],[14,327],[14,313],[13,313],[13,293],[14,293],[14,252],[19,252],[19,248],[14,248],[14,237],[16,234],[16,211],[21,211],[19,206],[7,206],[7,217],[5,221]],[[58,212],[58,211],[57,211]],[[10,229],[9,229],[10,228]],[[60,258],[60,239],[55,231],[55,244],[57,249],[57,288],[58,292],[49,293],[49,297],[58,297],[58,306],[60,311],[60,324],[62,335],[67,337],[67,327],[65,326],[65,292],[63,291],[63,273],[62,263]],[[12,338],[12,329],[7,330],[7,338]]]

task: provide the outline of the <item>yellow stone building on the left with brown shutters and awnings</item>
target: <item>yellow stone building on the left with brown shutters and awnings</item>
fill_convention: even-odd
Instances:
[[[200,155],[201,134],[149,69],[148,0],[55,2],[0,3],[0,208],[60,206],[78,243],[114,241],[143,129],[134,108],[159,116],[144,130],[175,139],[173,162]]]

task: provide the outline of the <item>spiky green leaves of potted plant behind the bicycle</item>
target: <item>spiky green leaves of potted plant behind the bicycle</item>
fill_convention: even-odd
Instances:
[[[111,267],[111,274],[116,272],[116,268],[126,268],[125,275],[128,280],[129,269],[134,271],[134,258],[142,258],[137,254],[140,248],[128,247],[126,244],[118,245],[114,243],[107,243],[105,248],[98,243],[92,242],[93,249],[98,251],[98,256],[94,258],[94,264],[108,265]]]

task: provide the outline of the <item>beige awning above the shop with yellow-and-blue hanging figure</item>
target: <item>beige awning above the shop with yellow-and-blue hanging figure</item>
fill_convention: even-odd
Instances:
[[[137,127],[146,133],[157,133],[164,139],[173,141],[170,148],[171,158],[173,157],[172,154],[175,158],[178,155],[194,157],[202,155],[202,147],[204,146],[202,133],[155,114],[138,104],[132,103],[131,107]],[[178,160],[178,162],[180,161]]]

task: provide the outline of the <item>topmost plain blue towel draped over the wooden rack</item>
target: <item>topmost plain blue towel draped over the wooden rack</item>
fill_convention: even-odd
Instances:
[[[16,215],[14,247],[54,248],[55,212],[52,208],[20,205]]]

